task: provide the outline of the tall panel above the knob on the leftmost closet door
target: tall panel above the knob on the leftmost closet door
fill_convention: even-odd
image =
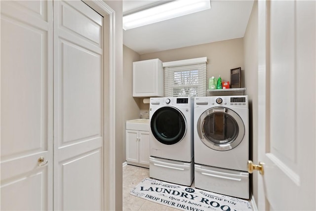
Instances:
[[[5,159],[47,150],[49,114],[47,33],[6,20],[1,20],[2,30],[6,33],[1,35],[1,48],[11,48],[12,52],[1,53],[1,77],[6,79],[1,89],[8,93],[1,101],[5,111],[1,115],[6,120],[1,125],[1,138],[10,140],[1,142],[1,158]]]

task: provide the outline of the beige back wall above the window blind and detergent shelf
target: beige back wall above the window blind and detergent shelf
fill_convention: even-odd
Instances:
[[[140,60],[159,58],[163,62],[169,62],[205,56],[207,79],[221,75],[222,81],[230,81],[230,70],[237,67],[241,67],[242,76],[244,75],[243,38],[142,54]]]

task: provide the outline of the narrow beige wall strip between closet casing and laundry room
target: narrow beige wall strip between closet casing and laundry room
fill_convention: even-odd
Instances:
[[[116,131],[115,131],[115,174],[117,175],[115,181],[116,190],[116,210],[122,210],[122,93],[123,93],[123,32],[122,32],[122,1],[116,0],[105,0],[115,11],[115,120],[116,120]],[[106,135],[106,134],[105,134]]]

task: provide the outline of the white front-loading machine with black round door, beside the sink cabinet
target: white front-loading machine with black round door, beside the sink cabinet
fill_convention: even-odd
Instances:
[[[191,185],[194,178],[194,98],[150,99],[150,177]]]

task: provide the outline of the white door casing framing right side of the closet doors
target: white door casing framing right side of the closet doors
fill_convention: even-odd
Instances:
[[[88,3],[88,1],[86,1]],[[108,89],[109,97],[109,119],[107,121],[107,131],[109,131],[109,143],[104,144],[104,210],[116,210],[116,148],[115,148],[115,11],[103,0],[92,0],[92,2],[104,11],[109,17],[109,79]],[[104,110],[106,110],[104,104]],[[106,156],[108,155],[108,156]],[[106,176],[108,175],[108,176]]]

